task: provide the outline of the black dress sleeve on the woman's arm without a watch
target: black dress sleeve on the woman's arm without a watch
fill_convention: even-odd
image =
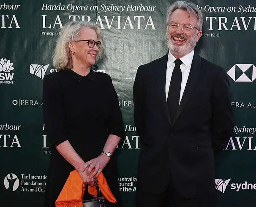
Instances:
[[[64,129],[63,94],[57,74],[44,78],[43,115],[50,147],[68,140]]]

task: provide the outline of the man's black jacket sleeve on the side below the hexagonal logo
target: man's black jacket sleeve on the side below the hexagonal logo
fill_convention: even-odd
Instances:
[[[229,80],[223,69],[218,75],[212,93],[212,143],[214,150],[222,150],[228,143],[234,127]]]

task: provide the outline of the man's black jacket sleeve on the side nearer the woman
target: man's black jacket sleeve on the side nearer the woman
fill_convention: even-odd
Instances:
[[[142,71],[139,66],[135,81],[133,84],[133,115],[134,122],[137,127],[137,132],[140,137],[144,135],[144,93],[143,93],[143,80]]]

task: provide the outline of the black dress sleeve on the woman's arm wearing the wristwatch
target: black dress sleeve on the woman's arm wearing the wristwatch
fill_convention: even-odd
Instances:
[[[108,132],[109,134],[117,135],[120,138],[124,137],[123,130],[123,117],[119,107],[117,93],[114,90],[114,86],[111,77],[108,76],[107,85],[109,86],[110,96],[110,113],[108,118]]]

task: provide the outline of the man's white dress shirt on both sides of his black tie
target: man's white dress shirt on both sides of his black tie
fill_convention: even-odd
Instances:
[[[187,81],[188,81],[188,75],[191,69],[191,64],[194,56],[194,50],[192,50],[190,53],[187,55],[183,56],[180,58],[182,61],[182,64],[180,65],[180,70],[182,73],[182,79],[181,79],[181,87],[180,87],[180,101],[182,98],[182,95],[184,93]],[[168,92],[169,92],[169,87],[170,87],[170,82],[172,78],[172,72],[175,66],[174,61],[176,58],[170,53],[168,54],[168,61],[167,61],[167,68],[166,68],[166,80],[165,80],[165,96],[166,96],[166,101],[168,98]]]

